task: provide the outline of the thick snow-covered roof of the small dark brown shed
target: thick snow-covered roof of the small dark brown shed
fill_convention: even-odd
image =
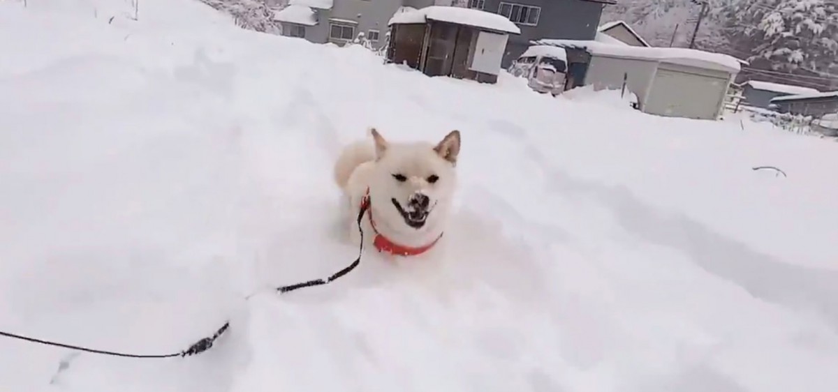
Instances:
[[[430,6],[421,9],[400,9],[390,18],[391,24],[425,23],[427,20],[464,24],[476,28],[520,34],[521,30],[510,19],[497,13],[487,13],[479,9]]]

